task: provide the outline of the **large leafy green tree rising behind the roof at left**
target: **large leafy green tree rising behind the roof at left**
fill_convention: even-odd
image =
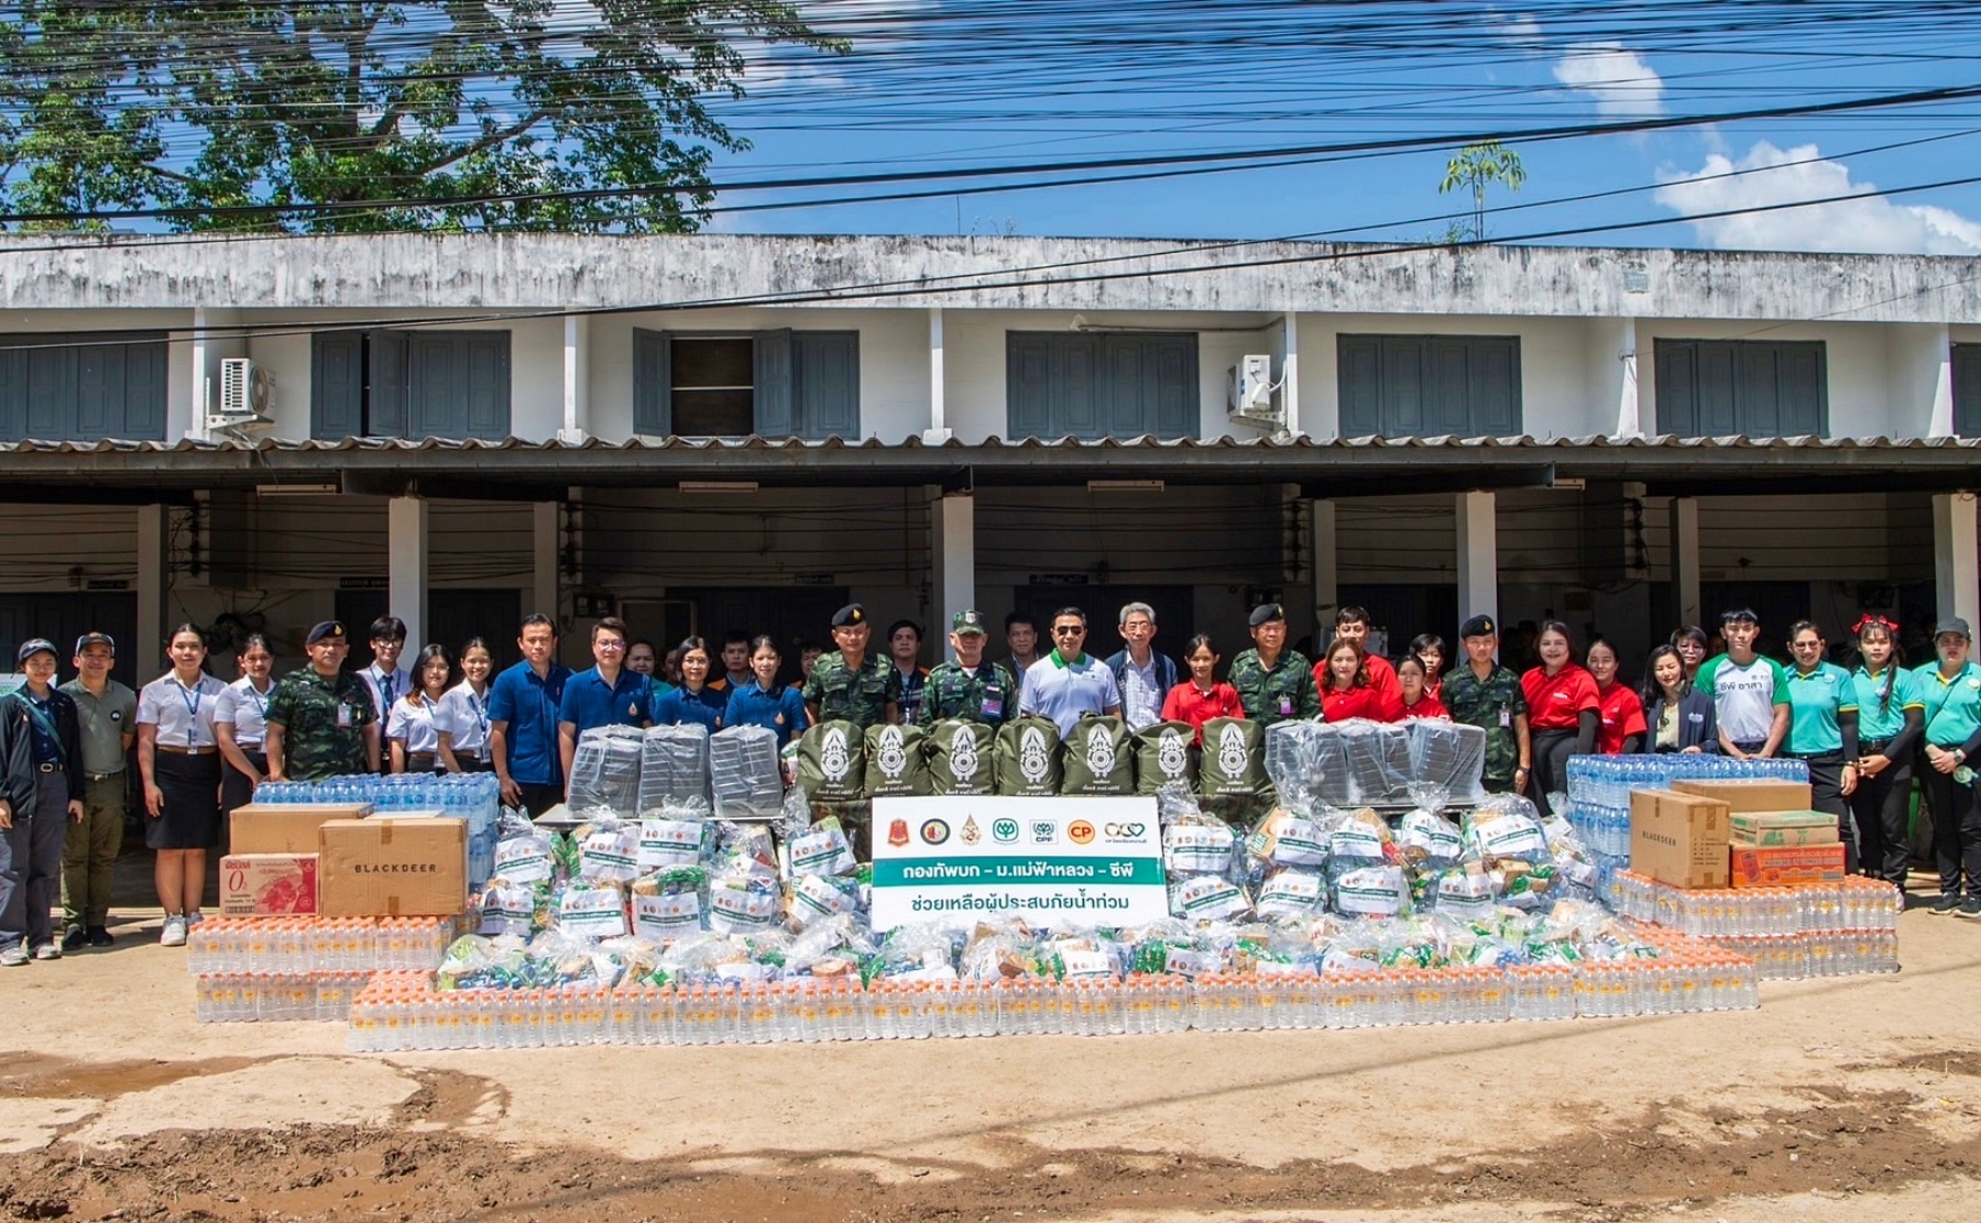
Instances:
[[[0,200],[194,210],[180,230],[691,232],[713,150],[749,146],[709,103],[767,55],[846,49],[792,0],[16,0]],[[303,210],[370,200],[406,204]]]

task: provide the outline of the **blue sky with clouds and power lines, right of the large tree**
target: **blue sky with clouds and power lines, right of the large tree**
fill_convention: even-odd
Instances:
[[[1222,8],[1222,12],[1218,12]],[[1793,107],[1969,85],[1981,22],[1908,20],[1906,6],[1834,4],[1834,20],[1753,30],[1688,28],[1721,4],[1618,2],[1494,8],[1149,0],[1026,6],[1018,0],[822,0],[810,12],[854,40],[848,57],[755,57],[753,97],[721,115],[753,141],[719,182],[1058,158],[1199,154],[1341,141],[1440,137],[1644,117]],[[1751,6],[1749,6],[1751,8]],[[1763,6],[1781,8],[1789,6]],[[1195,12],[1193,12],[1195,10]],[[1147,28],[1143,16],[1147,14]],[[1345,26],[1343,18],[1357,22]],[[1189,22],[1199,22],[1193,36]],[[1700,22],[1712,24],[1712,22]],[[1103,28],[1105,26],[1105,28]],[[1305,38],[1313,30],[1313,38]],[[1078,46],[1088,36],[1086,46]],[[1395,46],[1363,46],[1369,40]],[[1305,44],[1305,46],[1303,46]],[[1513,142],[1515,196],[1543,204],[1488,220],[1494,237],[1654,220],[1593,245],[1704,245],[1981,253],[1981,186],[1882,190],[1981,174],[1981,99],[1825,117]],[[1904,148],[1872,150],[1914,142]],[[1391,156],[1123,184],[775,212],[725,212],[711,228],[777,234],[1030,234],[1274,237],[1345,232],[1424,239],[1460,212],[1438,194],[1452,146]],[[1716,176],[1706,182],[1686,182]],[[899,190],[939,190],[903,184]],[[719,204],[887,188],[729,192]],[[1844,204],[1723,220],[1688,214],[1852,196]]]

